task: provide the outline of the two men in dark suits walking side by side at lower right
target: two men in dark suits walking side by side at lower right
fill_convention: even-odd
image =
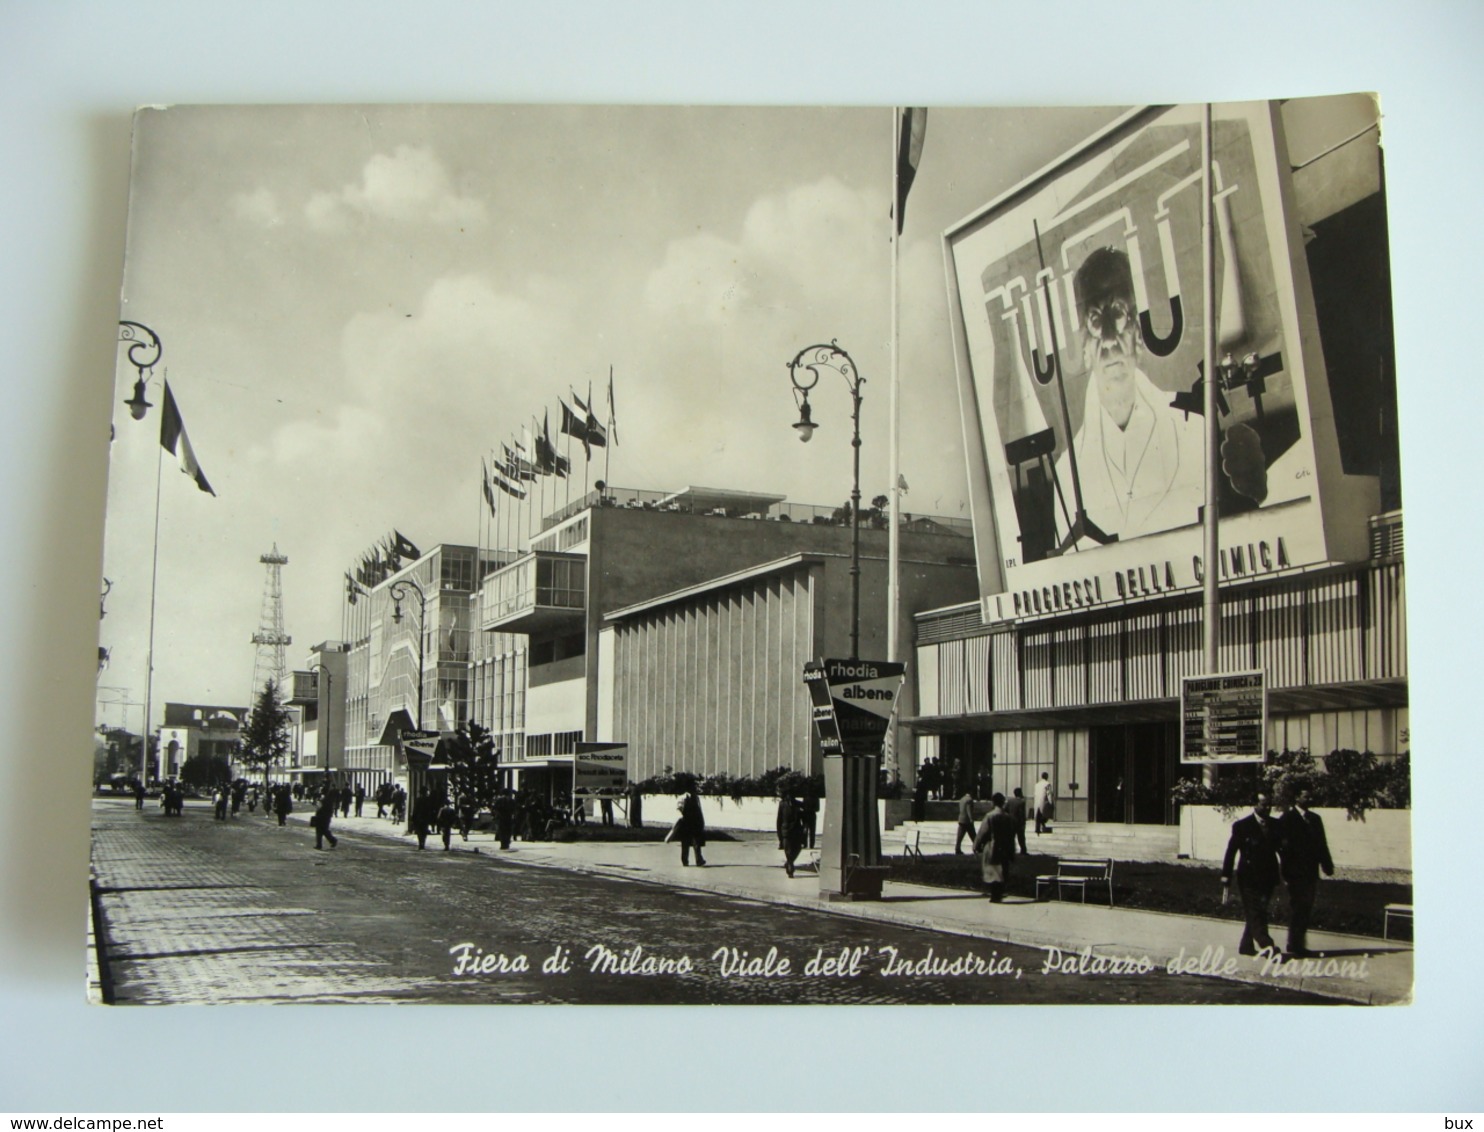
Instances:
[[[1334,859],[1324,820],[1309,807],[1306,789],[1287,798],[1282,816],[1273,817],[1272,800],[1258,794],[1252,812],[1232,823],[1232,838],[1221,860],[1221,902],[1232,893],[1232,878],[1242,899],[1245,924],[1238,952],[1255,955],[1278,947],[1269,932],[1273,893],[1279,881],[1288,886],[1287,954],[1309,955],[1309,917],[1319,889],[1319,871],[1334,875]]]

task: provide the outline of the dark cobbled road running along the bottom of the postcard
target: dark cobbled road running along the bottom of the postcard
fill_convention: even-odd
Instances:
[[[217,822],[209,807],[187,804],[168,819],[154,806],[95,800],[113,1000],[1324,1001],[1158,969],[1045,975],[1039,948],[534,868],[457,840],[451,853],[435,841],[417,852],[411,840],[356,834],[341,834],[335,850],[313,844],[306,826],[261,815]],[[893,957],[898,973],[883,973]],[[565,970],[543,972],[548,960]],[[835,966],[809,973],[810,960]],[[933,963],[960,966],[929,970]],[[913,973],[919,964],[923,973]]]

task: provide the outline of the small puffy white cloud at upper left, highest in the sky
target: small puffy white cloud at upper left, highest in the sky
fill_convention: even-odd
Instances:
[[[488,212],[482,200],[459,194],[432,150],[398,145],[371,157],[359,184],[315,193],[304,206],[304,220],[321,231],[343,231],[352,221],[371,218],[476,227],[488,223]]]

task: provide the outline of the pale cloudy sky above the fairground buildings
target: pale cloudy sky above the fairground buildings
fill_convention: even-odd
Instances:
[[[968,516],[942,231],[1117,113],[929,111],[899,245],[905,512]],[[592,469],[574,447],[574,493],[843,503],[846,383],[813,392],[812,444],[789,427],[787,363],[831,340],[865,377],[862,494],[886,493],[893,163],[887,107],[139,111],[120,317],[159,335],[150,401],[168,378],[217,494],[163,454],[159,408],[129,417],[120,346],[99,720],[141,718],[159,467],[153,723],[249,702],[273,546],[294,668],[390,530],[497,542],[482,457],[555,429],[568,390],[607,417],[610,368],[619,444]]]

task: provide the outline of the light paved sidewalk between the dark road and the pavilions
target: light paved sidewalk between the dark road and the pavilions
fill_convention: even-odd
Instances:
[[[291,820],[307,820],[294,813]],[[405,825],[377,817],[337,817],[335,831],[371,834],[404,841],[416,852],[416,840],[404,835]],[[438,834],[427,838],[427,852],[442,853]],[[951,889],[886,881],[880,901],[828,902],[819,895],[819,878],[801,869],[789,880],[782,855],[769,837],[742,841],[712,841],[705,868],[684,868],[678,846],[659,841],[552,843],[515,841],[502,850],[490,832],[454,832],[453,852],[497,856],[502,862],[559,868],[573,872],[622,877],[631,881],[712,892],[767,904],[784,904],[831,915],[876,920],[933,932],[1046,948],[1046,961],[1068,975],[1097,973],[1097,957],[1144,955],[1165,970],[1172,961],[1184,973],[1217,975],[1239,982],[1281,982],[1350,1003],[1405,1003],[1411,998],[1413,950],[1410,944],[1367,936],[1310,932],[1310,950],[1324,958],[1273,964],[1236,955],[1241,924],[1199,915],[1146,912],[1068,902],[1006,899],[990,904],[984,896]],[[800,862],[807,859],[807,853]],[[1278,929],[1279,942],[1282,929]]]

